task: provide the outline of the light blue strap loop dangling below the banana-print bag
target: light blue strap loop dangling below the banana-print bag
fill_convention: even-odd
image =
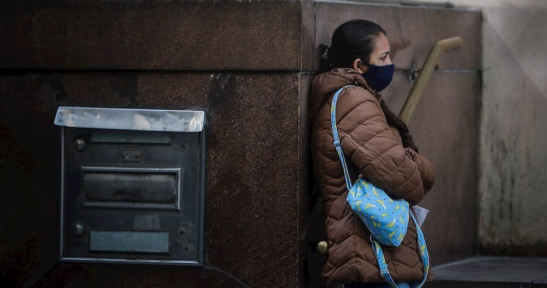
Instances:
[[[420,254],[422,256],[422,263],[423,263],[423,279],[420,285],[416,286],[416,288],[422,287],[424,283],[426,283],[427,279],[427,273],[429,272],[429,254],[427,252],[427,246],[426,246],[426,239],[423,238],[422,229],[420,228],[420,224],[418,224],[418,221],[414,217],[414,214],[412,214],[411,211],[409,211],[410,216],[412,217],[412,221],[414,221],[414,224],[416,225],[416,230],[418,232],[418,244],[420,245]],[[380,275],[383,279],[387,281],[391,286],[397,287],[397,284],[395,284],[395,281],[393,281],[393,278],[391,278],[391,275],[389,274],[389,270],[387,269],[386,259],[383,257],[383,251],[382,247],[380,246],[380,243],[378,243],[376,240],[373,240],[373,238],[370,238],[373,243],[373,250],[374,254],[376,254],[376,259],[378,260],[378,266],[380,268]]]

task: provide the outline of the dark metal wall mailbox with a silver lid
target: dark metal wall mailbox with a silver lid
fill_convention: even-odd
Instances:
[[[61,261],[201,265],[205,113],[59,107]]]

